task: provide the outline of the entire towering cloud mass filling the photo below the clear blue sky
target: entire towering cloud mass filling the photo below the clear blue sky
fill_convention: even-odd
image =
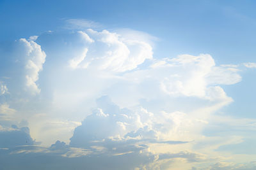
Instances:
[[[256,120],[218,114],[239,65],[207,53],[156,59],[148,34],[67,22],[81,30],[21,38],[1,58],[0,169],[255,168],[256,151],[230,148],[256,140],[243,133]]]

